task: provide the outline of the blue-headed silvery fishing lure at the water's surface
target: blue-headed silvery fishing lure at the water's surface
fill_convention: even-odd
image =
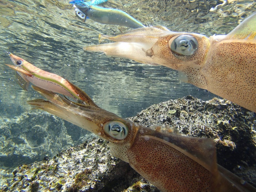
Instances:
[[[69,3],[74,4],[76,16],[83,22],[90,18],[102,24],[121,25],[130,28],[145,27],[129,14],[118,9],[103,8],[81,0],[74,0]]]

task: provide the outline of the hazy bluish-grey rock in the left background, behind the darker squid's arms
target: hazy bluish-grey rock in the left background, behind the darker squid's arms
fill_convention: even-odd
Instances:
[[[0,166],[4,169],[53,157],[64,148],[87,140],[89,133],[42,111],[0,119]]]

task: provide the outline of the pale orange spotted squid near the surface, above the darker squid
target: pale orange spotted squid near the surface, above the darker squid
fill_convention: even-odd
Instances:
[[[178,70],[181,81],[256,112],[256,13],[227,35],[207,37],[153,26],[117,36],[100,34],[99,41],[104,39],[115,43],[88,45],[84,51]]]

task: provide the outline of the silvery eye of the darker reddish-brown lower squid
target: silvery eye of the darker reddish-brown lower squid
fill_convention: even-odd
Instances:
[[[105,124],[104,131],[111,137],[123,140],[128,135],[128,129],[125,124],[120,121],[111,121]]]

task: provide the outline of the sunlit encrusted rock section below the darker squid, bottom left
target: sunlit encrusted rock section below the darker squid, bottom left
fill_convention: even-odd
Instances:
[[[23,164],[4,179],[0,187],[3,191],[107,192],[122,191],[133,183],[136,189],[145,186],[153,192],[158,191],[145,183],[128,163],[112,156],[107,141],[98,137],[63,150],[51,160]]]

